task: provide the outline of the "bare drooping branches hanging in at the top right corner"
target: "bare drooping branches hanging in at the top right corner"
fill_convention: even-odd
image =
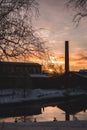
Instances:
[[[67,0],[67,6],[73,8],[76,14],[73,21],[77,23],[87,16],[87,0]]]

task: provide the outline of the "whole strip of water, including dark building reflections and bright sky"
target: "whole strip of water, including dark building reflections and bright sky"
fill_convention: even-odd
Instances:
[[[65,120],[87,120],[87,96],[80,95],[74,97],[66,96],[65,99],[55,102],[35,102],[35,103],[18,103],[11,104],[7,107],[0,107],[1,121],[20,122],[20,121],[58,121]],[[43,109],[44,108],[44,109]],[[11,118],[6,118],[11,117]],[[13,118],[12,118],[13,117]]]

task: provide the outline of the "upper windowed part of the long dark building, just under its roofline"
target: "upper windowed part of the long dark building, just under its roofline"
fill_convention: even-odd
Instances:
[[[0,62],[0,74],[4,75],[23,75],[40,74],[41,65],[38,63],[25,62]]]

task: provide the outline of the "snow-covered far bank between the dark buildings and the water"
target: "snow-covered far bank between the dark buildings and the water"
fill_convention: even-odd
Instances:
[[[66,94],[72,96],[86,94],[86,92],[57,89],[2,89],[0,90],[0,104],[64,97]]]

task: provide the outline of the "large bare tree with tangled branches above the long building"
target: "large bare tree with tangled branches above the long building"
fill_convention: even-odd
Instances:
[[[34,12],[36,0],[0,0],[0,60],[44,52],[44,41],[32,27]]]

